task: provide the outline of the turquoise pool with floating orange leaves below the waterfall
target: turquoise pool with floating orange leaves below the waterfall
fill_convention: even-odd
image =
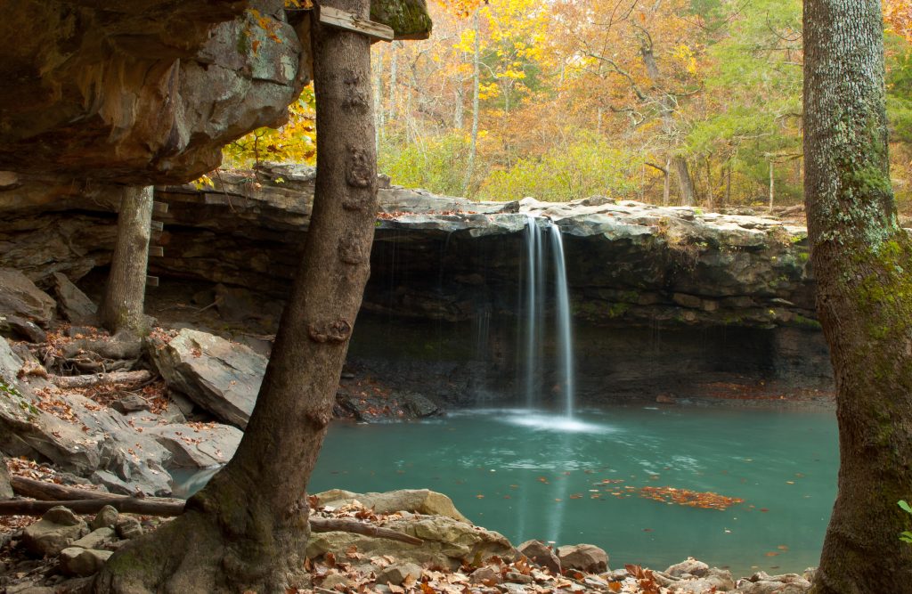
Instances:
[[[837,470],[832,412],[491,409],[337,422],[309,491],[430,488],[514,545],[592,543],[612,568],[692,556],[747,576],[817,565]]]

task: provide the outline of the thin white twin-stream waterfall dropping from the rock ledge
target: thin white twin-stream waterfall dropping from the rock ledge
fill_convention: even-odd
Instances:
[[[523,316],[523,391],[526,406],[534,409],[541,404],[543,382],[541,373],[546,366],[554,366],[560,378],[559,391],[563,398],[566,417],[574,411],[573,328],[570,315],[570,296],[567,289],[564,244],[560,228],[550,221],[544,229],[551,235],[551,259],[554,270],[554,329],[557,355],[554,361],[544,361],[543,342],[547,328],[545,255],[542,225],[532,215],[526,218],[526,263],[524,282]]]

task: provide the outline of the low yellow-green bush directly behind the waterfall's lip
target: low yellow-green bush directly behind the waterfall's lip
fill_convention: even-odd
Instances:
[[[583,135],[541,158],[521,159],[509,171],[492,172],[479,195],[488,200],[518,200],[532,196],[548,202],[567,202],[594,194],[626,197],[637,188],[642,157]]]

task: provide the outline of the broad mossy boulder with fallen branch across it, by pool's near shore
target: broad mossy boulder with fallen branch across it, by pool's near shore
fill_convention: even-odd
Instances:
[[[399,562],[422,566],[459,568],[463,562],[492,556],[513,560],[516,550],[503,535],[444,516],[397,519],[384,526],[424,539],[420,547],[384,538],[363,537],[348,532],[320,532],[307,541],[306,555],[317,558],[332,552],[343,558],[349,547],[367,556],[391,555]]]

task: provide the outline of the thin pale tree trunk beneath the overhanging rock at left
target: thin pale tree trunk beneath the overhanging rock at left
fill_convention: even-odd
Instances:
[[[124,186],[108,287],[98,312],[101,325],[111,334],[126,331],[140,336],[148,330],[143,303],[151,223],[152,186]]]

